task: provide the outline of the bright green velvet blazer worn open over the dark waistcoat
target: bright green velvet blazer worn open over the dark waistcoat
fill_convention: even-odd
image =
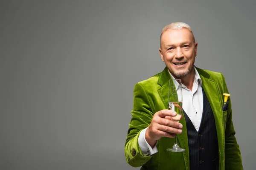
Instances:
[[[221,73],[196,68],[202,79],[202,87],[211,105],[218,135],[219,170],[243,170],[239,145],[236,142],[232,122],[231,101],[227,111],[222,111],[224,105],[223,93],[228,93],[224,76]],[[166,151],[172,147],[174,138],[162,137],[157,142],[158,152],[152,156],[144,156],[138,144],[140,131],[151,123],[154,113],[168,109],[168,88],[170,74],[168,68],[161,73],[134,86],[134,105],[131,111],[131,122],[125,142],[125,158],[133,167],[148,170],[189,170],[189,145],[187,139],[186,121],[183,132],[177,134],[179,146],[185,152]]]

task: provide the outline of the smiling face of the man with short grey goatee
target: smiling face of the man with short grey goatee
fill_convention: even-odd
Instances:
[[[165,31],[161,37],[160,56],[175,78],[194,74],[197,42],[186,28]]]

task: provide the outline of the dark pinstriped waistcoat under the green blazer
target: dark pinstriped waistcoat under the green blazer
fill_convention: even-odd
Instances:
[[[218,170],[218,139],[215,119],[207,96],[203,91],[203,114],[197,131],[183,111],[189,143],[190,170]]]

